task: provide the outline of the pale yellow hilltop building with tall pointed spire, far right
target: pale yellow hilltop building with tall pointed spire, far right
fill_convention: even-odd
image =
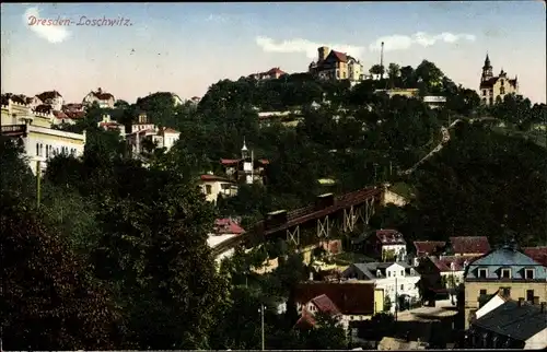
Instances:
[[[498,97],[503,99],[503,97],[508,94],[519,94],[519,82],[516,75],[514,79],[509,79],[503,69],[501,69],[498,77],[494,77],[492,72],[490,58],[487,54],[479,86],[479,95],[482,104],[493,105]]]

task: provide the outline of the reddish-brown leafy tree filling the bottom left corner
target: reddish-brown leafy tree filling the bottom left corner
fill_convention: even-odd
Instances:
[[[119,315],[85,265],[13,196],[2,198],[2,342],[9,350],[123,347]]]

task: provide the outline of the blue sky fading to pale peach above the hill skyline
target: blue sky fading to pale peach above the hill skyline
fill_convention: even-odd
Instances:
[[[30,26],[30,16],[72,24]],[[82,16],[131,25],[77,25]],[[545,27],[542,1],[3,3],[1,86],[27,95],[56,89],[70,102],[100,86],[129,102],[156,91],[188,98],[272,67],[305,71],[323,45],[368,70],[383,40],[386,62],[427,59],[472,89],[488,51],[494,72],[517,74],[521,93],[545,102]]]

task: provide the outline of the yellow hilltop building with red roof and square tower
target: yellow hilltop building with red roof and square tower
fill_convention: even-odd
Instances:
[[[359,82],[363,78],[363,66],[356,58],[323,46],[317,49],[317,62],[312,61],[309,72],[324,80],[349,80]]]

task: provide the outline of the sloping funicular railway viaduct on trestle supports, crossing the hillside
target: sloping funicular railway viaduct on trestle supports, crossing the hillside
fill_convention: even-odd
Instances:
[[[338,197],[321,195],[307,207],[268,213],[243,235],[220,243],[212,253],[219,256],[237,246],[252,248],[279,238],[296,248],[327,240],[334,231],[350,233],[359,224],[368,224],[375,208],[383,203],[383,187],[363,188]]]

